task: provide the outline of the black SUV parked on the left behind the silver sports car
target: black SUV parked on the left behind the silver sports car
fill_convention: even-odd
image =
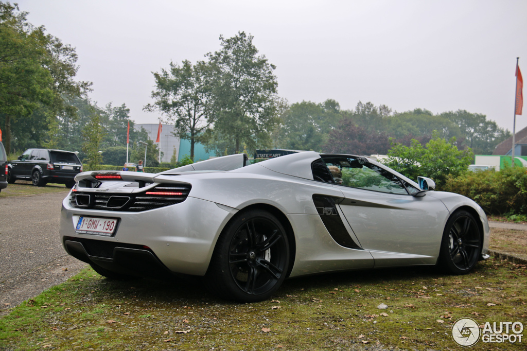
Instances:
[[[82,172],[82,163],[74,152],[49,149],[28,149],[18,161],[11,161],[7,169],[7,182],[17,179],[31,180],[35,187],[46,183],[66,184],[72,188],[75,176]]]

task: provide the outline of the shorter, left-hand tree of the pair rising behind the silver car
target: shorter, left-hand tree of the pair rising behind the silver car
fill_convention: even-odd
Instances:
[[[170,62],[170,70],[153,73],[156,90],[152,91],[153,104],[147,111],[159,111],[174,123],[179,138],[190,141],[190,158],[194,159],[194,144],[206,138],[213,122],[210,113],[211,86],[206,79],[209,67],[200,61],[192,65],[183,61],[181,66]]]

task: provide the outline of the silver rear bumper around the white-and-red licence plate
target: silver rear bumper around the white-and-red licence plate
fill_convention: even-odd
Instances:
[[[74,208],[67,196],[62,203],[59,232],[70,255],[112,271],[135,274],[135,266],[122,263],[123,255],[127,259],[135,257],[132,261],[141,266],[144,258],[149,262],[149,272],[167,268],[174,273],[202,276],[221,230],[234,213],[192,197],[158,209],[121,212]],[[77,233],[75,227],[81,216],[114,218],[118,225],[113,236]],[[89,246],[92,243],[95,246]],[[164,268],[155,262],[162,262]]]

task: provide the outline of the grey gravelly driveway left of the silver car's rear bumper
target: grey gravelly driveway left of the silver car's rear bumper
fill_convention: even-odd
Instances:
[[[67,255],[58,237],[66,194],[0,199],[0,315],[86,265]]]

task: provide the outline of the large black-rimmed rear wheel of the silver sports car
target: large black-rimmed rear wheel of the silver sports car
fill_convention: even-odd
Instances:
[[[245,303],[269,298],[289,268],[287,232],[271,213],[248,210],[223,229],[207,271],[209,290]]]

